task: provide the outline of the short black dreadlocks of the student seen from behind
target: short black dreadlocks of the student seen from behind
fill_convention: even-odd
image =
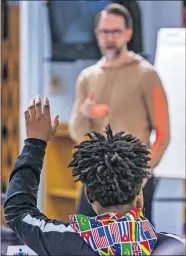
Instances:
[[[110,126],[105,135],[92,132],[89,140],[75,146],[72,176],[87,189],[90,202],[102,207],[131,203],[148,176],[149,151],[136,137],[125,132],[113,135]]]

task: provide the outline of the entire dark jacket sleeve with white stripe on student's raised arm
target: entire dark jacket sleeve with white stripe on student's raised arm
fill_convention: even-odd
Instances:
[[[69,241],[72,239],[81,247],[83,239],[70,225],[48,219],[37,208],[45,148],[44,141],[25,140],[10,176],[4,204],[5,219],[16,235],[38,255],[69,255]]]

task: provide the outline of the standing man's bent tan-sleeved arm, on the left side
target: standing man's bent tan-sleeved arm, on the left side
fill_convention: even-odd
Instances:
[[[75,103],[69,122],[70,135],[76,142],[81,141],[84,135],[91,131],[91,118],[84,116],[81,112],[81,106],[89,96],[87,88],[86,78],[81,73],[76,83]]]

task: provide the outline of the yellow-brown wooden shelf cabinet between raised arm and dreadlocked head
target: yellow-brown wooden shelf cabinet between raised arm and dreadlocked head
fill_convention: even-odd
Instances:
[[[68,125],[60,124],[48,143],[44,164],[45,214],[66,222],[76,210],[81,189],[79,182],[74,182],[71,168],[67,168],[74,146]]]

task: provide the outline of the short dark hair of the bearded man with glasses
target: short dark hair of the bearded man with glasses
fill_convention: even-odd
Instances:
[[[130,15],[130,12],[124,6],[122,6],[120,4],[116,4],[116,3],[115,4],[109,4],[109,5],[106,6],[106,8],[103,11],[106,12],[107,14],[113,14],[113,15],[122,17],[125,21],[125,27],[127,29],[133,28],[133,20],[132,20],[132,17]],[[100,21],[101,15],[102,15],[102,12],[98,13],[98,15],[96,16],[95,27],[98,26],[98,23]]]

